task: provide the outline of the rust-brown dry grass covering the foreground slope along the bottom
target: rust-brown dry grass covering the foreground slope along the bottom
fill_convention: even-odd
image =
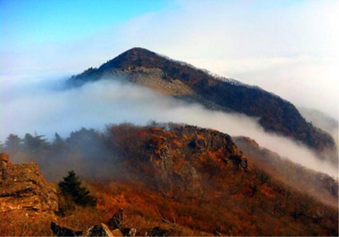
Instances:
[[[268,182],[268,183],[267,183]],[[106,222],[121,207],[124,208],[124,227],[134,227],[138,235],[159,226],[173,236],[222,235],[264,236],[328,236],[338,232],[335,211],[315,205],[307,195],[290,194],[277,198],[276,189],[267,181],[259,185],[253,197],[244,194],[206,196],[201,202],[194,198],[174,200],[151,191],[142,184],[91,182],[86,186],[98,199],[93,207],[77,207],[69,216],[17,216],[6,213],[0,217],[0,236],[52,236],[50,221],[74,230],[85,230],[93,224]],[[304,202],[304,203],[303,203]],[[322,209],[323,208],[323,209]],[[291,213],[302,213],[293,216]],[[318,222],[310,216],[319,212]],[[175,222],[176,226],[162,220]],[[175,220],[175,221],[174,221]]]

